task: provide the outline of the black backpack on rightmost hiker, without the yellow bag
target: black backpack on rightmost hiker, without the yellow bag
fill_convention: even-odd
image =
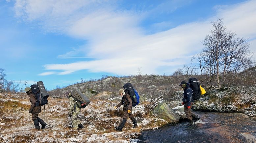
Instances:
[[[189,85],[193,90],[192,99],[199,99],[201,94],[199,81],[196,78],[191,77],[189,78]]]

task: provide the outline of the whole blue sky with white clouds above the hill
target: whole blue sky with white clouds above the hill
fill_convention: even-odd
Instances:
[[[0,68],[47,89],[102,75],[172,74],[203,48],[210,21],[256,51],[255,0],[1,0]],[[255,57],[255,55],[254,55]]]

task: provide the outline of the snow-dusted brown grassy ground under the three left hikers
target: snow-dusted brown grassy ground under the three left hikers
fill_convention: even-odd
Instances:
[[[48,125],[37,131],[28,112],[31,105],[29,97],[20,99],[0,93],[0,142],[128,142],[130,138],[138,137],[141,130],[162,123],[161,119],[150,116],[149,103],[142,103],[133,108],[139,128],[133,129],[132,120],[128,119],[123,131],[116,132],[115,126],[121,123],[124,114],[122,106],[114,109],[118,103],[91,100],[85,109],[81,109],[78,118],[84,128],[77,131],[72,129],[71,117],[68,117],[68,99],[49,97],[45,115],[43,106],[39,114]]]

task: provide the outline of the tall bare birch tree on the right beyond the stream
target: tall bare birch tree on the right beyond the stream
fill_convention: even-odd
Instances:
[[[195,57],[200,72],[207,84],[220,89],[222,84],[231,83],[243,69],[243,62],[250,54],[247,39],[237,38],[223,24],[223,18],[211,22],[213,28],[202,41],[201,53]],[[221,79],[221,81],[220,81]],[[217,86],[213,82],[217,83]]]

